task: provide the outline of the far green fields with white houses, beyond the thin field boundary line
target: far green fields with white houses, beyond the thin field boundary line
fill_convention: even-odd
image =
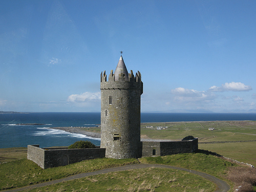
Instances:
[[[202,121],[202,122],[168,122],[165,130],[145,128],[156,123],[143,123],[141,135],[154,139],[182,139],[188,135],[199,137],[200,141],[239,141],[256,140],[255,121]],[[160,125],[160,124],[159,124]],[[208,131],[214,127],[215,131]],[[247,135],[250,134],[250,135]]]

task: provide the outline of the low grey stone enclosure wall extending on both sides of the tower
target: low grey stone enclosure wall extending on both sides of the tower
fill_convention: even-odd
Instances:
[[[140,151],[139,156],[142,157],[192,153],[198,150],[198,138],[185,141],[143,141],[140,142],[139,149],[137,149]],[[34,161],[41,168],[63,166],[103,157],[105,157],[105,148],[99,147],[68,149],[68,147],[40,148],[39,145],[28,145],[28,159]]]

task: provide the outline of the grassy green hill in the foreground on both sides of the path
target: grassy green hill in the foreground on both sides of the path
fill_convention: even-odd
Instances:
[[[228,167],[234,164],[204,153],[177,154],[163,157],[140,158],[142,163],[174,165],[225,179]],[[49,169],[41,169],[34,162],[23,159],[0,165],[0,189],[27,186],[55,180],[78,173],[92,172],[107,167],[138,163],[135,159],[94,159]],[[231,183],[230,183],[231,184]],[[174,169],[134,169],[123,172],[90,176],[62,182],[32,191],[213,191],[215,185],[203,178]]]

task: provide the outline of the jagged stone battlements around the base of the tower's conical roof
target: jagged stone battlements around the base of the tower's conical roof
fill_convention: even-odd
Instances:
[[[100,82],[106,82],[106,71],[104,71],[103,73],[101,72],[100,74]],[[111,70],[110,75],[109,75],[109,82],[113,82],[113,81],[127,81],[125,80],[125,74],[124,73],[120,73],[118,80],[115,80],[115,74],[113,73],[113,70]],[[130,82],[141,82],[141,74],[138,71],[136,73],[136,75],[134,76],[133,74],[133,70],[131,70],[131,73],[129,73],[129,80]]]

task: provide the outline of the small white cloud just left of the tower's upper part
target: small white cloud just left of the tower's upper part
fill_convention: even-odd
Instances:
[[[100,92],[91,93],[84,92],[82,94],[73,94],[68,97],[70,102],[88,102],[88,101],[98,101],[100,100]]]

